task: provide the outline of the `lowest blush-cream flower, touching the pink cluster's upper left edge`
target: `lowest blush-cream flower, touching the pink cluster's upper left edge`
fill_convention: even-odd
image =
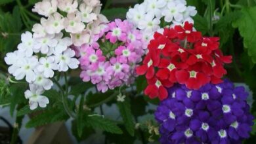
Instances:
[[[71,33],[71,39],[75,46],[81,46],[85,43],[89,43],[90,41],[90,33],[89,31],[82,31],[81,33]]]

